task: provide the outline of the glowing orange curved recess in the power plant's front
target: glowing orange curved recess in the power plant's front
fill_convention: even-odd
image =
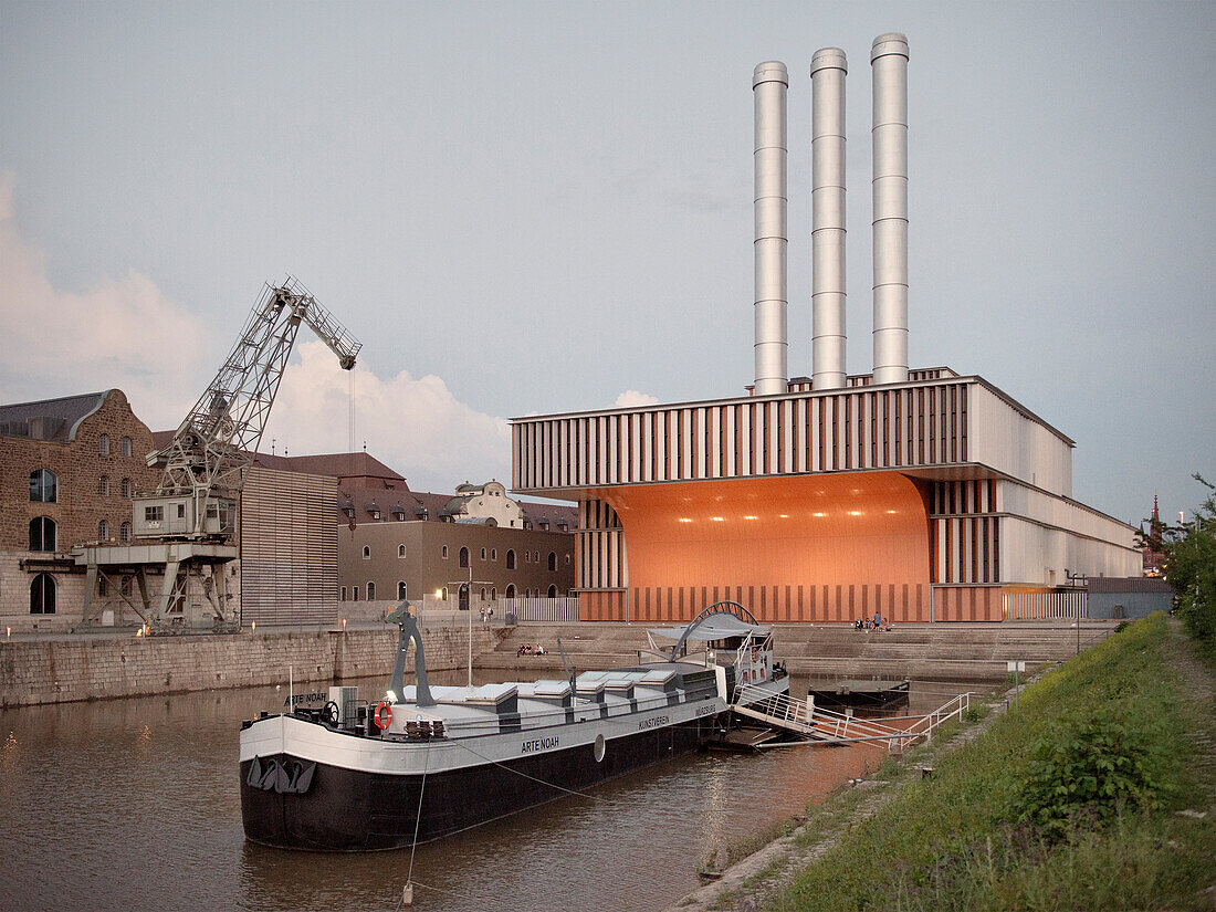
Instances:
[[[929,619],[925,501],[897,472],[589,494],[624,527],[635,620],[688,619],[719,597],[770,621]]]

